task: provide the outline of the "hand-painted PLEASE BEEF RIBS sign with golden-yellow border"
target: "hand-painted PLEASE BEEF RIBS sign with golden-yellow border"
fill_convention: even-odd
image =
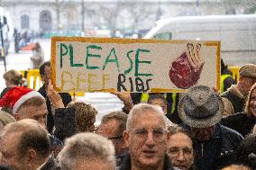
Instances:
[[[220,41],[51,38],[59,92],[184,92],[219,87]]]

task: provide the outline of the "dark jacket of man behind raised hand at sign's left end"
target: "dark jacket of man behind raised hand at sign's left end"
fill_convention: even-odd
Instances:
[[[41,88],[38,90],[38,92],[46,100],[46,105],[47,105],[47,110],[48,110],[46,124],[47,124],[47,130],[51,133],[51,131],[53,130],[53,126],[54,126],[54,119],[53,119],[53,115],[51,112],[50,100],[46,94],[45,85],[42,85]],[[62,103],[64,104],[65,107],[72,101],[71,95],[68,93],[59,93],[59,95],[60,95],[60,97],[62,99]]]

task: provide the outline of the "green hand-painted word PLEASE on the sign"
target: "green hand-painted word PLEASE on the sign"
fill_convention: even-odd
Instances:
[[[124,75],[129,74],[133,69],[134,69],[134,76],[152,76],[151,73],[141,73],[139,72],[140,65],[142,64],[147,64],[151,65],[151,61],[148,60],[140,60],[140,57],[143,55],[145,56],[146,54],[150,54],[149,49],[136,49],[134,50],[128,50],[125,54],[122,56],[117,56],[116,55],[116,49],[114,47],[110,49],[110,51],[106,51],[103,49],[101,46],[97,45],[88,45],[87,46],[87,53],[85,56],[85,61],[86,63],[78,63],[76,60],[76,57],[74,56],[74,48],[72,44],[66,45],[64,43],[60,43],[59,45],[59,67],[62,68],[63,66],[63,60],[65,58],[69,58],[69,66],[65,67],[85,67],[87,70],[96,70],[96,69],[102,69],[105,70],[105,68],[108,66],[110,63],[114,63],[116,68],[111,68],[112,70],[116,69],[118,73],[123,73]],[[94,51],[94,52],[93,52]],[[107,54],[105,59],[103,58],[101,53]],[[134,55],[134,58],[132,58],[132,55]],[[122,58],[121,58],[122,57]],[[103,64],[102,66],[96,66],[91,64],[91,59],[99,59]],[[120,59],[127,59],[127,63],[129,63],[129,67],[121,71],[121,66],[120,66]],[[133,64],[134,63],[134,64]],[[134,68],[133,68],[134,65]],[[113,65],[112,65],[113,66]]]

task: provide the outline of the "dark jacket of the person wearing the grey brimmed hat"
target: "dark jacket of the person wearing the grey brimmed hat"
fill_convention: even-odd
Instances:
[[[194,140],[195,166],[200,170],[218,170],[232,165],[233,151],[238,148],[242,139],[238,132],[217,123],[211,139],[204,142]]]

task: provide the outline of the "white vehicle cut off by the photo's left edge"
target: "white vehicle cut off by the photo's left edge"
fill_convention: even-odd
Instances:
[[[10,47],[10,40],[12,40],[12,37],[13,37],[14,27],[13,27],[13,22],[11,20],[10,14],[3,7],[0,7],[0,21],[2,26],[5,56],[6,56],[8,54],[8,49]],[[2,51],[1,37],[0,37],[0,51]],[[0,52],[0,57],[2,58],[2,52]]]

